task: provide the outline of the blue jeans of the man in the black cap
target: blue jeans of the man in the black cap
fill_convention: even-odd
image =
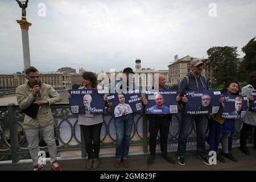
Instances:
[[[115,140],[115,157],[118,160],[127,159],[132,128],[133,114],[115,118],[115,131],[117,134],[117,139]]]

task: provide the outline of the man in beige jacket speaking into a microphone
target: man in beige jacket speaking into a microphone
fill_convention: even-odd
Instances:
[[[34,164],[34,171],[42,171],[44,166],[39,162],[39,130],[43,132],[44,141],[47,143],[49,156],[51,157],[51,168],[53,171],[61,171],[61,167],[57,164],[57,148],[54,138],[53,116],[49,105],[60,101],[60,94],[57,93],[51,85],[40,84],[39,71],[35,67],[29,67],[25,71],[28,82],[16,88],[16,98],[20,109],[28,110],[39,105],[36,117],[31,116],[31,112],[26,112],[24,116],[23,128],[26,133],[30,156]],[[37,108],[37,107],[36,107]]]

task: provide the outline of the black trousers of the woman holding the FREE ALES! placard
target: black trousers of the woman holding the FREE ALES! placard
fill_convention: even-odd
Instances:
[[[85,148],[88,159],[98,159],[98,155],[100,154],[100,135],[102,123],[90,126],[80,125],[80,129],[84,135]]]

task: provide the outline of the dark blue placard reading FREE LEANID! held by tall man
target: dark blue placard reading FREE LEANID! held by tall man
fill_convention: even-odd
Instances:
[[[185,114],[208,115],[218,112],[221,96],[219,90],[185,91],[188,102],[185,104]]]

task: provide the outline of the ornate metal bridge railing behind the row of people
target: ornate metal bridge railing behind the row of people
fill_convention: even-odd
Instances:
[[[78,125],[78,115],[71,114],[68,104],[54,104],[51,106],[53,118],[55,119],[55,138],[57,151],[81,150],[82,158],[86,157],[86,148],[82,133]],[[104,124],[101,129],[101,148],[115,147],[114,118],[109,110],[103,114]],[[170,122],[168,143],[177,143],[180,130],[181,114],[174,114]],[[13,163],[19,161],[20,154],[29,154],[26,134],[22,129],[24,113],[17,105],[9,104],[0,106],[0,155],[11,155]],[[240,127],[241,129],[241,127]],[[238,129],[238,131],[240,130]],[[208,127],[205,131],[208,133]],[[238,132],[234,139],[238,138]],[[42,140],[42,135],[39,136]],[[80,139],[81,138],[81,139]],[[148,151],[148,121],[143,112],[134,113],[134,125],[131,133],[130,146],[143,146],[144,154]],[[192,123],[187,142],[196,142],[195,122]],[[159,138],[158,138],[159,143]],[[47,152],[47,146],[40,147]]]

